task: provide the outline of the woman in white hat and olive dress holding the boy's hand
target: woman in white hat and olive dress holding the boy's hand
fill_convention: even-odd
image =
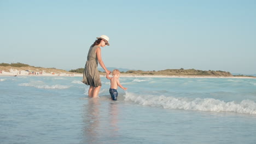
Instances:
[[[101,58],[101,47],[109,45],[108,40],[109,38],[107,35],[97,37],[97,40],[95,40],[94,44],[91,45],[88,52],[82,82],[85,83],[85,85],[90,85],[88,94],[91,98],[98,97],[98,92],[100,92],[101,89],[100,73],[98,73],[97,68],[98,63],[100,63],[101,67],[107,74],[111,73],[111,71],[105,67]]]

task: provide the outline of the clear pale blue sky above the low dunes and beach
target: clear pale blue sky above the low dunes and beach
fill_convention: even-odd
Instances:
[[[256,74],[256,1],[0,0],[0,21],[0,63],[83,68],[105,34],[107,67]]]

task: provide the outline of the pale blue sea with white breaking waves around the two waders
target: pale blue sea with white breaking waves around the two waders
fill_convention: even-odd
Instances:
[[[0,77],[0,143],[256,143],[256,79]]]

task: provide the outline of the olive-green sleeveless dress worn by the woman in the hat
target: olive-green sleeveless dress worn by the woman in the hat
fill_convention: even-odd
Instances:
[[[89,49],[87,61],[84,67],[84,75],[82,82],[85,85],[93,87],[101,86],[100,73],[98,73],[98,58],[96,55],[96,49],[98,46],[92,46]]]

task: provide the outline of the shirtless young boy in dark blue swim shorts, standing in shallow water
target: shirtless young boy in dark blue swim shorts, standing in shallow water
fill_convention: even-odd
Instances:
[[[109,93],[111,95],[112,100],[117,100],[118,92],[117,88],[118,86],[120,88],[123,88],[126,90],[127,88],[123,87],[120,82],[119,82],[119,76],[120,76],[120,71],[118,69],[114,69],[112,72],[113,77],[109,77],[108,74],[106,75],[107,79],[110,80],[110,88],[109,88]]]

